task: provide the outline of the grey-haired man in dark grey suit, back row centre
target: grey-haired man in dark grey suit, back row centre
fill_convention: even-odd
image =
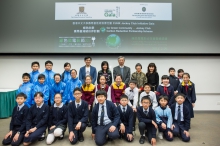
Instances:
[[[128,87],[128,83],[130,81],[131,70],[129,67],[124,66],[125,58],[123,56],[118,57],[118,63],[119,63],[119,66],[116,66],[113,69],[113,76],[115,78],[117,74],[121,74],[122,82],[124,82],[126,87]]]

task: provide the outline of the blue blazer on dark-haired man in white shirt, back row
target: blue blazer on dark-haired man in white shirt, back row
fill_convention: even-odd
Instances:
[[[96,68],[93,66],[90,66],[90,76],[92,77],[92,84],[95,84],[97,72],[96,72]],[[82,84],[84,84],[85,82],[85,77],[86,77],[86,66],[83,66],[79,70],[79,80],[82,82]]]

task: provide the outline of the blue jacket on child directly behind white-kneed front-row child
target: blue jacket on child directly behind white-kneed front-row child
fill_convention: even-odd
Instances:
[[[65,104],[66,103],[66,97],[65,97],[65,89],[66,89],[66,84],[64,82],[59,82],[59,83],[54,83],[51,87],[51,96],[50,96],[50,103],[51,105],[54,104],[54,96],[56,93],[60,93],[62,95],[62,102]]]

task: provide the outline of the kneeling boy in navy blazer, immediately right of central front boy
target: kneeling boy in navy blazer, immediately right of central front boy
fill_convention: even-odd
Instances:
[[[133,129],[133,109],[128,106],[128,96],[122,95],[120,99],[120,105],[117,107],[120,114],[119,132],[120,137],[128,142],[134,140]]]

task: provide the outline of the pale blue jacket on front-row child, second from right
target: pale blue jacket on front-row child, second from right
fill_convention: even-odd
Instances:
[[[155,114],[157,124],[161,125],[162,123],[164,123],[167,125],[168,130],[170,130],[173,123],[173,117],[170,108],[161,108],[160,106],[158,106],[155,109]]]

